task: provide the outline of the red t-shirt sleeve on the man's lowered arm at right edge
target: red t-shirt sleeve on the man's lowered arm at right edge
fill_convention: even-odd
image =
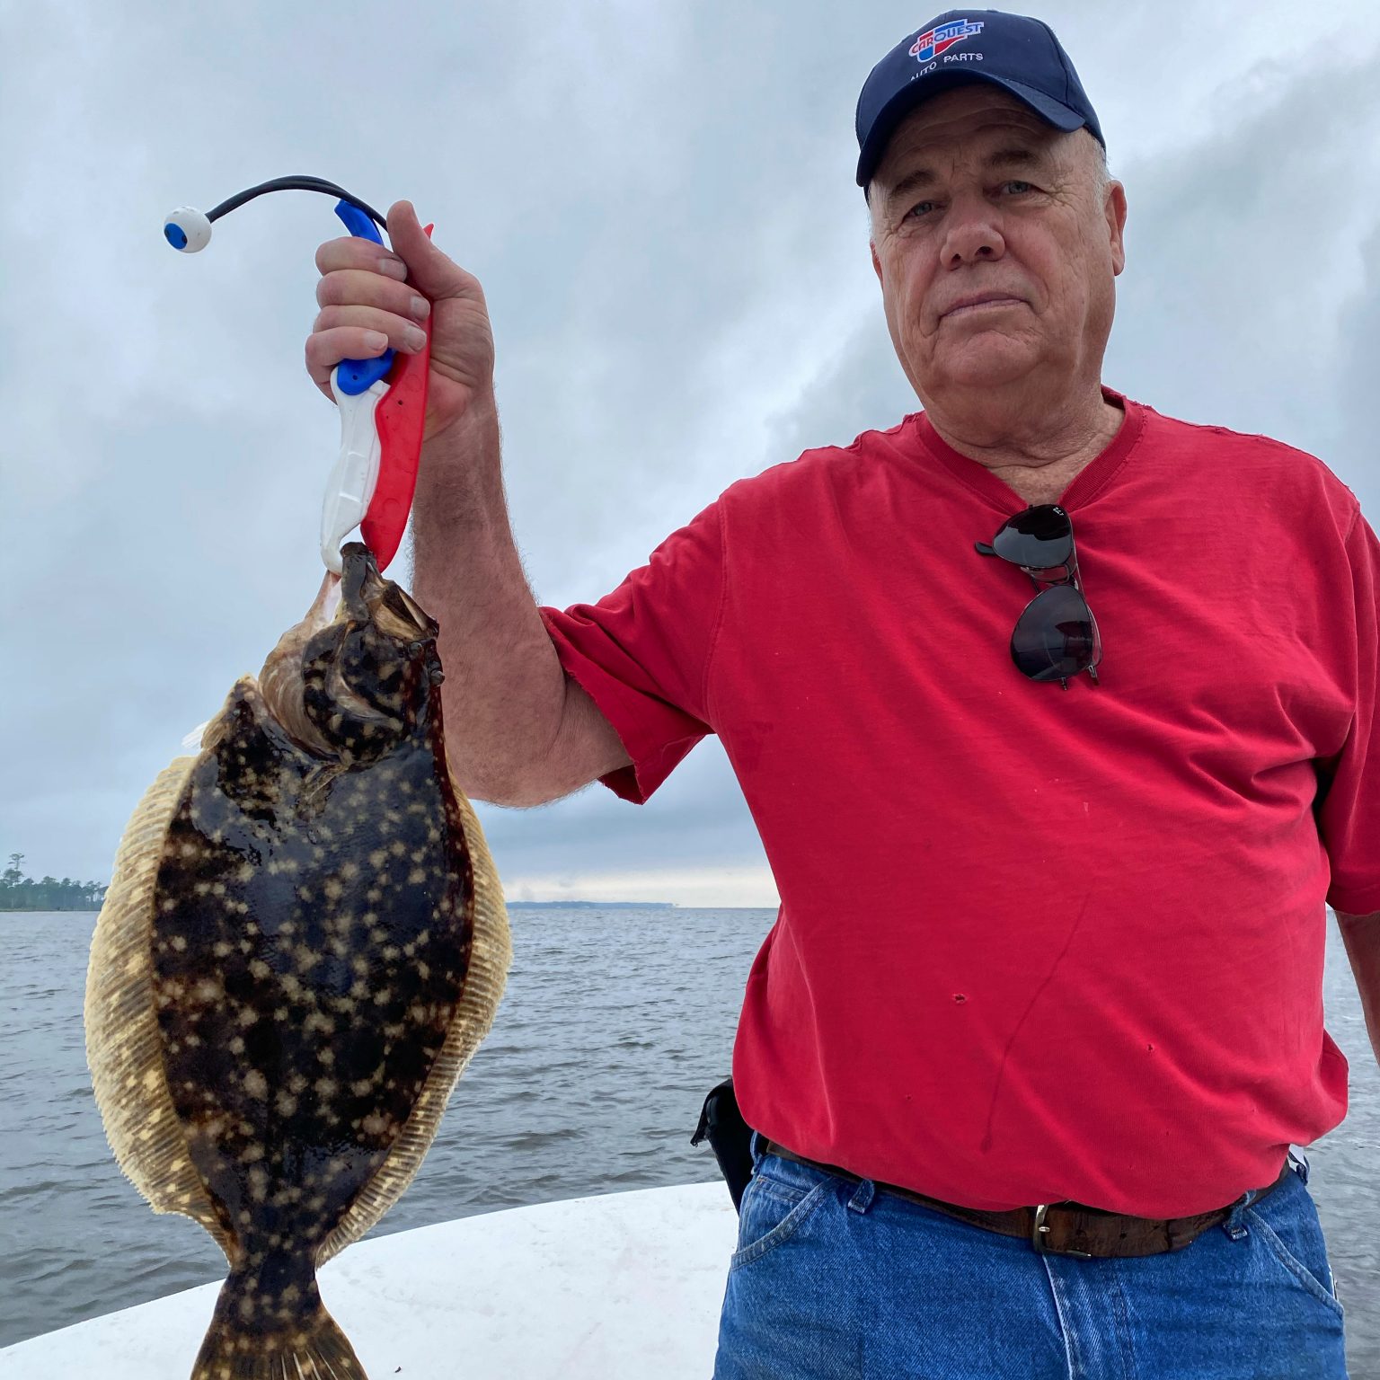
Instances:
[[[1372,915],[1380,911],[1380,541],[1359,512],[1347,556],[1355,599],[1357,712],[1341,752],[1319,763],[1317,816],[1332,864],[1328,904],[1347,915]]]

